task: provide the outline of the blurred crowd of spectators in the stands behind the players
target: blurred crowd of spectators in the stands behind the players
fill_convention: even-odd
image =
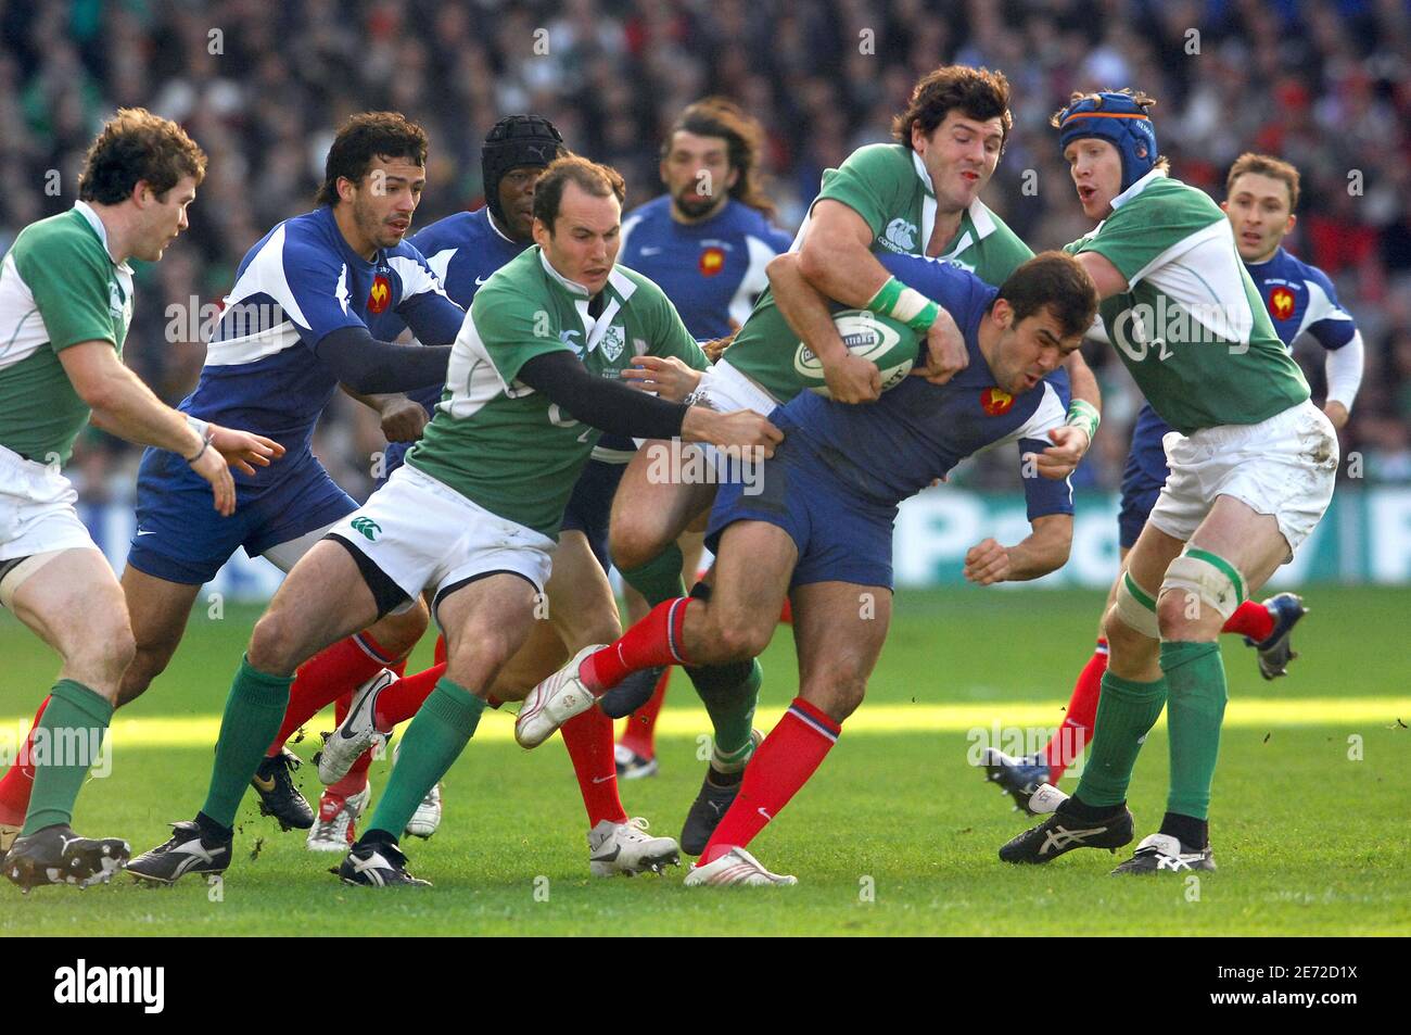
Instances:
[[[660,191],[658,147],[680,109],[724,93],[763,124],[769,191],[793,230],[823,169],[888,140],[924,72],[964,62],[1013,86],[1015,133],[983,199],[1036,250],[1091,229],[1047,121],[1070,90],[1157,97],[1173,172],[1218,199],[1242,151],[1295,162],[1304,199],[1287,244],[1333,278],[1367,346],[1343,450],[1362,453],[1369,480],[1411,481],[1405,0],[0,0],[0,251],[73,203],[83,151],[119,106],[181,121],[210,155],[189,233],[138,264],[127,359],[172,402],[200,369],[200,306],[265,230],[312,208],[354,112],[426,127],[425,226],[481,203],[480,141],[501,114],[553,119],[573,150],[622,171],[631,208]],[[1305,345],[1321,398],[1322,352]],[[1089,359],[1106,407],[1081,481],[1110,489],[1140,398],[1110,354]],[[356,496],[381,446],[371,412],[344,398],[316,441]],[[89,498],[120,496],[134,463],[90,432],[73,473]]]

